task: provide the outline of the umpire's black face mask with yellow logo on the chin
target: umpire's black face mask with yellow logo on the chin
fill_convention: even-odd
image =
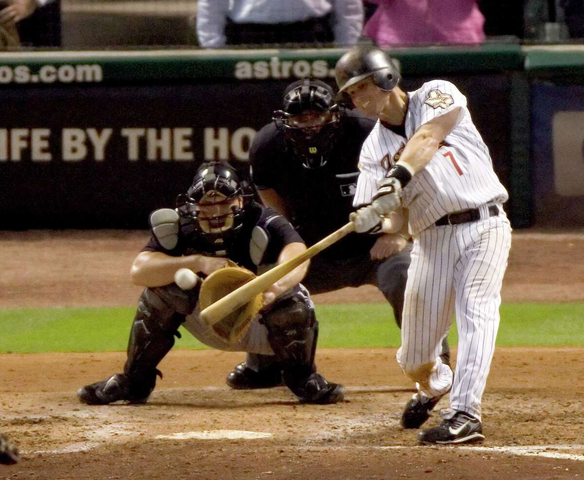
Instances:
[[[325,82],[299,80],[286,87],[283,107],[272,115],[305,168],[320,168],[328,161],[342,115],[334,96]]]

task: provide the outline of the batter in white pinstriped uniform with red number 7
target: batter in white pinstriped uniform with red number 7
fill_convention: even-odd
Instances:
[[[406,208],[413,236],[397,360],[418,392],[402,426],[420,427],[450,391],[442,422],[422,430],[420,443],[482,441],[481,397],[511,241],[502,208],[507,192],[464,95],[450,82],[404,92],[389,55],[371,47],[343,55],[336,79],[358,109],[378,117],[361,149],[354,205],[369,205],[353,214],[356,229],[399,228]],[[439,357],[453,314],[459,338],[454,373]]]

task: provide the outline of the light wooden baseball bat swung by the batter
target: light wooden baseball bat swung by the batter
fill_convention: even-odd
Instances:
[[[331,246],[335,242],[339,241],[344,236],[353,232],[355,226],[353,222],[349,222],[338,230],[332,232],[332,234],[325,236],[321,241],[312,245],[310,248],[306,249],[300,255],[287,260],[280,265],[273,267],[273,269],[255,277],[255,279],[248,281],[248,283],[243,284],[241,287],[236,288],[231,293],[225,295],[225,297],[220,298],[214,304],[209,305],[207,308],[201,311],[201,318],[208,325],[213,325],[220,321],[225,315],[229,315],[231,312],[235,311],[239,307],[245,305],[251,298],[255,297],[259,293],[265,291],[270,285],[276,283],[281,277],[287,273],[294,270],[297,266],[304,263],[309,258],[317,255],[317,253],[322,252],[328,246]]]

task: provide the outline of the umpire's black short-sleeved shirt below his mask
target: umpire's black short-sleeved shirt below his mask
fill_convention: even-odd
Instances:
[[[273,189],[283,199],[305,243],[310,246],[349,221],[359,176],[361,144],[375,124],[357,112],[341,117],[335,144],[325,166],[308,169],[290,148],[276,124],[263,127],[249,151],[252,178],[259,190]],[[346,258],[368,251],[374,235],[351,234],[320,255]]]

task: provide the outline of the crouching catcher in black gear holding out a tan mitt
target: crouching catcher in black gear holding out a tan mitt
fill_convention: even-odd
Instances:
[[[175,335],[180,336],[182,324],[216,349],[275,355],[283,364],[284,384],[300,402],[342,401],[345,388],[327,382],[314,364],[318,322],[310,295],[299,283],[306,263],[225,322],[207,325],[199,316],[205,302],[213,301],[214,295],[216,300],[213,290],[225,290],[218,271],[228,264],[263,273],[306,249],[287,220],[252,200],[252,191],[234,168],[220,162],[201,165],[187,194],[179,196],[177,207],[154,211],[150,226],[150,242],[131,268],[134,283],[146,288],[138,300],[124,371],[80,388],[81,402],[147,401],[157,375],[162,378],[158,363],[171,350]],[[203,284],[185,287],[175,277],[185,268],[204,278]],[[245,283],[244,277],[253,277],[241,268],[227,267],[223,272],[239,284]],[[253,311],[258,306],[259,312]]]

